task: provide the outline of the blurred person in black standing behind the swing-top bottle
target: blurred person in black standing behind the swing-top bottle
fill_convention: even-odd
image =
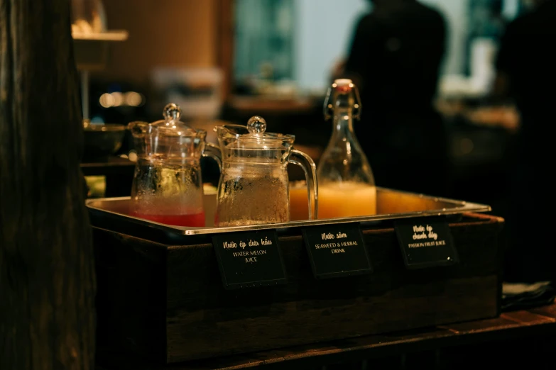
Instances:
[[[361,95],[354,130],[377,186],[444,196],[447,138],[434,108],[445,55],[442,14],[417,0],[369,0],[334,78],[351,79]]]

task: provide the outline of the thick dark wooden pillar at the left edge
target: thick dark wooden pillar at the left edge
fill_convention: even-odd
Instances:
[[[0,369],[94,368],[69,0],[0,0]]]

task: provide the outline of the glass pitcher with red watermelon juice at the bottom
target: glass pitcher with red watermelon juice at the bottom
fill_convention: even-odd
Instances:
[[[180,107],[165,106],[163,120],[131,122],[137,164],[131,187],[131,215],[176,226],[205,226],[201,156],[219,162],[207,131],[180,121]]]

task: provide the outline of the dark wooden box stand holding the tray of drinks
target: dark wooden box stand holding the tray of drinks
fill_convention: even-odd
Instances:
[[[301,235],[279,238],[288,284],[227,291],[211,244],[94,228],[99,350],[171,363],[457,323],[499,314],[503,220],[450,229],[460,262],[405,269],[392,228],[364,229],[374,271],[317,281]],[[295,231],[299,232],[299,231]]]

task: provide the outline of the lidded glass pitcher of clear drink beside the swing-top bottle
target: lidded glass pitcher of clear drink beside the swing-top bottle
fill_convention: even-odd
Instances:
[[[305,172],[309,219],[317,218],[315,162],[293,149],[294,135],[266,133],[266,121],[251,117],[247,126],[214,128],[222,155],[217,193],[218,227],[285,223],[290,220],[288,163]],[[311,196],[313,201],[311,201]]]

